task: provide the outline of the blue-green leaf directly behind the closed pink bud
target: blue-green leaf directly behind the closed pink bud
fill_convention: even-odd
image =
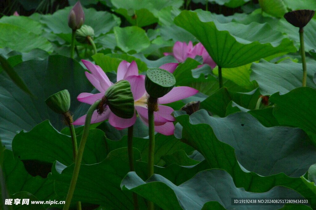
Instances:
[[[59,9],[53,15],[42,15],[40,22],[46,24],[47,29],[55,34],[71,34],[71,28],[68,26],[68,15],[72,7]],[[114,26],[120,24],[120,19],[106,11],[96,11],[93,8],[83,8],[85,15],[84,24],[94,29],[95,37],[106,34]],[[71,36],[71,35],[70,35]]]

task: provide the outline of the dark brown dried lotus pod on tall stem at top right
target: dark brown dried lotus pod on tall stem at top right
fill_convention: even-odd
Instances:
[[[295,27],[304,27],[313,18],[314,10],[300,9],[285,13],[284,18]]]

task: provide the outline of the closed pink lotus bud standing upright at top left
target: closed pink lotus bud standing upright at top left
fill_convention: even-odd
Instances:
[[[78,1],[75,6],[70,10],[68,15],[68,26],[72,30],[81,28],[84,23],[84,12],[81,3]]]

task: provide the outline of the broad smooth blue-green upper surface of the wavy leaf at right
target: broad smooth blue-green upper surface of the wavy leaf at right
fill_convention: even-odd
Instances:
[[[266,128],[246,112],[216,118],[201,110],[191,115],[190,122],[210,126],[209,130],[213,129],[219,141],[234,147],[237,160],[246,170],[261,176],[285,173],[290,177],[300,177],[316,160],[313,158],[316,148],[302,129],[282,126]],[[184,128],[183,132],[191,132],[187,129]],[[204,157],[210,155],[202,154]],[[297,159],[301,161],[295,161]]]

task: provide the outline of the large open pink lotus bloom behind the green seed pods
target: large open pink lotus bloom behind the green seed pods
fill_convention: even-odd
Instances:
[[[81,102],[87,104],[93,104],[96,100],[102,98],[107,88],[109,88],[113,83],[106,76],[104,71],[100,66],[94,65],[89,61],[82,60],[82,63],[91,72],[85,72],[88,80],[91,84],[97,88],[100,93],[81,93],[78,95],[77,99]],[[167,63],[159,68],[165,69],[169,72],[173,72],[178,66],[178,63]],[[145,75],[138,75],[138,67],[135,61],[128,63],[127,61],[122,61],[119,64],[117,71],[117,81],[127,80],[131,84],[131,92],[134,97],[135,110],[138,113],[139,118],[148,126],[148,109],[147,109],[147,93],[145,90]],[[159,104],[168,104],[174,101],[178,101],[196,94],[198,90],[191,87],[174,87],[165,96],[158,99]],[[155,112],[155,131],[164,135],[173,135],[175,120],[171,113],[174,111],[171,107],[165,105],[158,105],[159,111]],[[106,119],[109,119],[109,123],[116,129],[125,129],[130,127],[136,122],[136,111],[134,116],[130,119],[124,119],[116,116],[108,108],[104,114],[98,115],[97,111],[94,111],[91,119],[91,123],[99,123]],[[73,124],[83,125],[85,123],[86,115],[78,118]]]

